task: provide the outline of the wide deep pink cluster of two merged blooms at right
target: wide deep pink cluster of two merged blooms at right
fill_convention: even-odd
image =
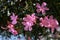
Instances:
[[[44,18],[40,18],[40,25],[43,27],[51,28],[51,31],[54,31],[54,28],[58,27],[59,23],[56,19],[53,19],[53,16],[45,16]]]

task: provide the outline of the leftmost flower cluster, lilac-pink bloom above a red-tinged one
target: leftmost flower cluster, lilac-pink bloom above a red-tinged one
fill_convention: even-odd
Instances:
[[[12,22],[11,22],[11,24],[10,23],[8,24],[7,28],[9,30],[9,32],[11,32],[14,35],[17,35],[18,32],[14,29],[14,25],[17,24],[17,18],[18,18],[18,16],[17,15],[15,16],[15,14],[13,13],[10,16],[10,18],[11,18]]]

